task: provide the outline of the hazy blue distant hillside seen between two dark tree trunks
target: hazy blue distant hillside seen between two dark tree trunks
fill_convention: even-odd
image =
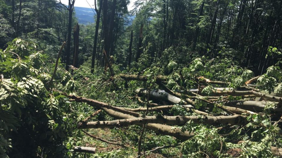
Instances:
[[[91,8],[74,7],[75,16],[79,24],[95,23],[94,13]]]

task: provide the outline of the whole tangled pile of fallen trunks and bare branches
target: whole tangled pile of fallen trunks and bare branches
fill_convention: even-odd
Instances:
[[[119,76],[120,78],[125,80],[126,86],[128,86],[127,81],[130,80],[138,80],[143,82],[146,82],[148,80],[147,76],[141,75],[120,74]],[[243,127],[253,121],[254,117],[249,116],[262,115],[263,113],[265,113],[265,111],[268,111],[271,114],[270,116],[273,116],[273,118],[271,118],[273,121],[272,124],[260,124],[259,126],[266,129],[270,128],[270,126],[275,126],[278,128],[278,125],[282,121],[282,117],[280,118],[282,112],[282,98],[276,96],[273,93],[266,94],[265,92],[256,89],[256,85],[252,85],[251,83],[253,83],[257,78],[258,77],[246,81],[246,85],[244,86],[238,88],[227,88],[224,86],[228,85],[229,83],[223,81],[212,81],[204,77],[199,77],[196,79],[197,83],[199,83],[199,87],[197,89],[186,90],[185,88],[181,87],[181,91],[174,92],[165,85],[167,80],[166,76],[157,76],[154,80],[155,83],[159,85],[160,89],[147,90],[139,88],[136,90],[135,98],[147,105],[147,107],[136,109],[116,107],[108,103],[99,102],[97,100],[75,95],[64,95],[66,95],[72,101],[84,102],[95,108],[104,110],[109,116],[112,116],[116,119],[113,121],[89,121],[91,117],[98,114],[96,112],[86,118],[84,121],[80,122],[78,124],[78,129],[83,130],[90,128],[119,128],[137,125],[142,127],[141,136],[144,133],[144,129],[146,128],[162,135],[175,137],[178,140],[184,142],[192,138],[195,134],[189,131],[183,131],[179,128],[175,128],[174,126],[184,126],[189,121],[192,121],[196,124],[214,125],[218,128],[232,128],[233,126]],[[206,96],[202,91],[204,87],[208,85],[217,85],[222,87],[212,88],[212,93]],[[148,99],[147,102],[144,102],[142,101],[140,96],[145,96],[146,98],[153,100],[159,100],[165,102],[166,104],[152,103],[149,102]],[[230,100],[230,98],[232,98],[232,100]],[[234,100],[234,98],[240,99]],[[198,107],[198,101],[204,102],[206,106]],[[270,104],[272,105],[271,107],[268,106]],[[185,115],[166,116],[162,114],[157,116],[148,116],[149,111],[166,111],[176,106],[180,106],[185,110],[192,111],[200,115],[201,117]],[[220,109],[220,112],[214,113],[214,108]],[[122,143],[109,142],[107,140],[95,137],[94,135],[91,135],[86,131],[84,132],[92,138],[110,144],[128,147]],[[277,130],[277,134],[282,135],[282,130],[280,128],[279,130]],[[142,155],[139,149],[141,145],[140,141],[138,142],[137,157],[140,157]],[[174,146],[175,145],[156,147],[150,151]],[[271,149],[273,155],[281,156],[282,152],[281,154],[279,152],[281,149],[278,149],[276,147],[272,147]],[[146,153],[150,151],[147,151]]]

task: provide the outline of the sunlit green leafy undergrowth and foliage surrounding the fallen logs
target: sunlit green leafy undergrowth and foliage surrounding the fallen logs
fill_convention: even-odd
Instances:
[[[132,148],[122,148],[109,145],[99,140],[86,136],[77,130],[77,123],[82,121],[98,109],[86,103],[69,102],[59,90],[69,94],[83,96],[106,102],[117,107],[137,108],[146,107],[146,103],[139,102],[135,90],[145,88],[158,89],[155,84],[156,76],[167,76],[166,86],[176,92],[184,89],[198,88],[197,78],[204,76],[210,80],[230,82],[226,87],[238,88],[246,80],[254,77],[248,69],[236,66],[236,62],[224,54],[221,58],[210,59],[202,56],[187,56],[185,62],[178,63],[183,56],[174,53],[174,48],[164,51],[163,57],[152,60],[141,55],[140,63],[132,63],[132,68],[113,64],[115,80],[105,83],[110,78],[110,73],[104,73],[103,68],[96,68],[90,73],[90,61],[85,62],[78,70],[66,72],[64,64],[59,63],[54,81],[50,84],[51,74],[55,64],[47,64],[53,60],[38,50],[36,44],[30,41],[15,39],[9,43],[6,50],[0,51],[1,88],[1,121],[0,121],[0,154],[1,157],[24,156],[41,157],[135,157],[137,143],[142,128],[129,126],[113,129],[89,129],[89,133],[112,142],[120,142]],[[54,61],[54,60],[53,60]],[[129,81],[128,87],[118,74],[145,75],[147,82]],[[277,65],[267,69],[258,83],[259,88],[265,92],[281,92],[281,71]],[[216,85],[203,87],[206,95],[211,94]],[[189,94],[188,94],[189,95]],[[147,102],[147,97],[141,97]],[[241,99],[240,97],[230,98]],[[150,102],[169,105],[164,101],[150,99]],[[196,109],[206,107],[207,104],[196,100]],[[233,126],[222,128],[217,126],[195,124],[192,121],[184,126],[175,126],[182,131],[194,133],[194,137],[182,142],[181,145],[158,150],[147,157],[273,157],[272,147],[281,147],[282,140],[278,128],[272,126],[269,109],[274,105],[266,106],[264,113],[247,115],[246,126]],[[222,110],[214,107],[212,114],[221,115]],[[141,113],[145,114],[145,113]],[[199,114],[186,111],[181,105],[161,112],[149,112],[150,116],[159,115],[186,115],[198,116]],[[246,115],[246,114],[245,114]],[[115,120],[101,111],[90,121]],[[261,126],[263,124],[263,126]],[[23,135],[25,137],[23,137]],[[28,136],[26,136],[28,135]],[[243,141],[238,144],[234,140]],[[142,139],[142,151],[152,148],[174,145],[179,143],[170,136],[161,135],[151,130],[145,131]],[[81,154],[73,152],[74,146],[96,147],[97,154]]]

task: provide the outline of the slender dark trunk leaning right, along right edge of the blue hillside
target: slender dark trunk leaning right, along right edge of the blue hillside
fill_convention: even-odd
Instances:
[[[92,54],[92,62],[91,62],[91,73],[94,72],[94,67],[95,67],[95,56],[96,56],[96,53],[97,53],[97,40],[98,40],[98,32],[99,32],[99,25],[100,25],[100,17],[101,17],[102,5],[103,5],[103,0],[100,0],[100,8],[99,8],[99,11],[97,13],[96,27],[95,27],[93,54]]]

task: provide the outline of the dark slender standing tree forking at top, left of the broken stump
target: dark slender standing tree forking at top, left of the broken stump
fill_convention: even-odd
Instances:
[[[70,40],[71,40],[71,24],[72,24],[72,16],[73,16],[73,8],[75,0],[68,0],[68,6],[63,4],[60,0],[61,5],[65,6],[68,10],[68,40],[67,40],[67,51],[64,56],[66,56],[66,71],[69,70],[69,62],[70,62]]]

